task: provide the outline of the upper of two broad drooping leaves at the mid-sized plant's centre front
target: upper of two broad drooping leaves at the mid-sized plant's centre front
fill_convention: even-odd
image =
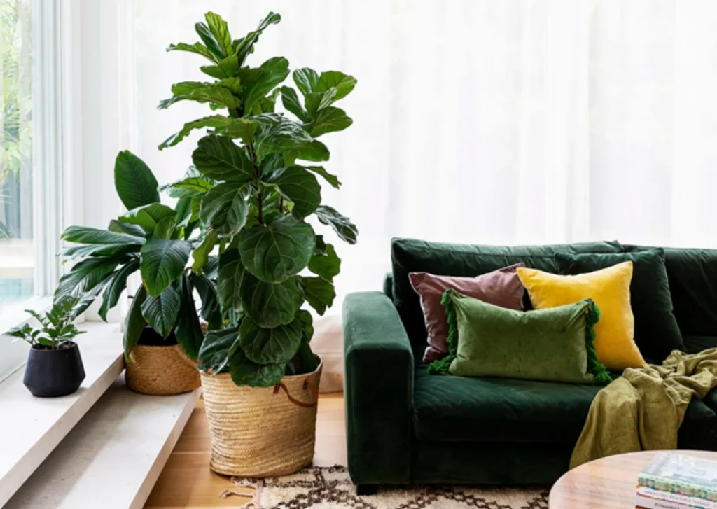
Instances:
[[[142,247],[142,281],[149,295],[159,295],[181,275],[189,260],[191,244],[186,240],[149,239]]]

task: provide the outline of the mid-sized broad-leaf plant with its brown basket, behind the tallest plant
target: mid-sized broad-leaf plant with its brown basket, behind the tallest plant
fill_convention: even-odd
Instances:
[[[191,172],[189,173],[191,175]],[[189,176],[188,176],[189,178]],[[221,326],[214,283],[186,268],[199,224],[199,202],[186,194],[173,207],[160,203],[152,171],[129,151],[115,161],[115,188],[128,211],[108,229],[72,226],[62,239],[65,260],[82,258],[57,285],[55,300],[102,295],[103,320],[118,303],[128,277],[140,271],[142,285],[133,296],[125,320],[127,385],[143,394],[179,394],[199,386],[196,360],[204,339],[194,289],[207,301],[202,314]],[[214,304],[213,304],[214,303]]]

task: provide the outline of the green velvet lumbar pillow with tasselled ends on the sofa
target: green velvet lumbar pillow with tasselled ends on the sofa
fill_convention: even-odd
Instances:
[[[432,374],[607,384],[592,342],[600,317],[592,299],[517,311],[446,290],[449,354],[431,363]]]

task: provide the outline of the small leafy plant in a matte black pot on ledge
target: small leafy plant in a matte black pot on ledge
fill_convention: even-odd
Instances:
[[[44,316],[26,310],[40,327],[25,324],[5,333],[30,345],[23,382],[33,396],[67,396],[77,391],[85,379],[80,347],[73,341],[82,331],[72,323],[82,304],[81,298],[70,297],[53,305]]]

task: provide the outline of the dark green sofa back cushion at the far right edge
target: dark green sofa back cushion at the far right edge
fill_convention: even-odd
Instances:
[[[654,248],[625,244],[623,249]],[[717,249],[665,247],[665,268],[683,336],[717,336]]]

